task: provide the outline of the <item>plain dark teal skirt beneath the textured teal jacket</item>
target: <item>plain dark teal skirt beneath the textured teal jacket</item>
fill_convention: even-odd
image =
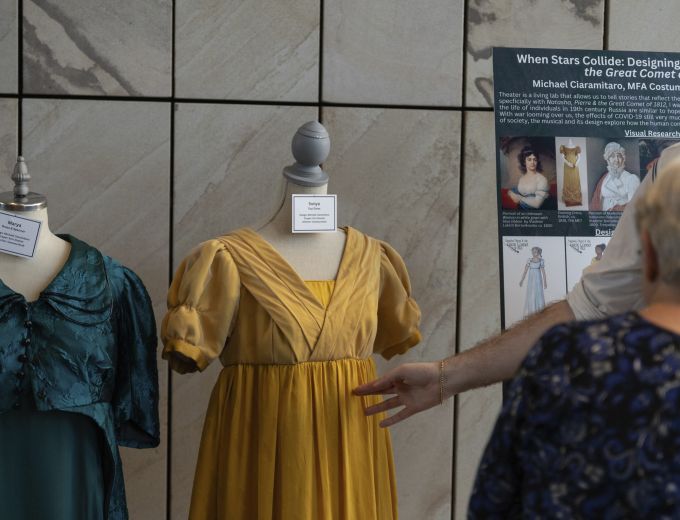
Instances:
[[[106,447],[95,422],[26,405],[0,414],[0,516],[104,519]]]

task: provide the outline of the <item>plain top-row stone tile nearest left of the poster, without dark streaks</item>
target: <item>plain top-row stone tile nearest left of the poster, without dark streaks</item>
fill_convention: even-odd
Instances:
[[[324,100],[459,105],[462,44],[462,0],[324,2]]]

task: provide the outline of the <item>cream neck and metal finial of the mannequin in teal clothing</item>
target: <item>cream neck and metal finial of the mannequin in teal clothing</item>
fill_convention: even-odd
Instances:
[[[23,157],[17,160],[12,180],[14,191],[0,193],[0,211],[42,224],[33,258],[0,254],[0,280],[26,300],[34,301],[66,263],[71,244],[50,231],[47,201],[44,196],[29,192],[30,175]]]

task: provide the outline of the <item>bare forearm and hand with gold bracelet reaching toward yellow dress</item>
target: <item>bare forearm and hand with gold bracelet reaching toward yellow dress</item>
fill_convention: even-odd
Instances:
[[[482,341],[470,350],[444,361],[443,397],[487,386],[511,378],[529,349],[550,327],[571,321],[574,313],[566,300],[554,303],[506,332]],[[402,407],[380,422],[392,426],[411,415],[439,404],[441,361],[406,363],[370,383],[357,387],[357,395],[382,394],[393,397],[366,409],[366,415]]]

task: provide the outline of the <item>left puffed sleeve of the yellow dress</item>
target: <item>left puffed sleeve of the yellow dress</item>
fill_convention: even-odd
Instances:
[[[239,294],[238,270],[222,242],[204,242],[182,261],[161,326],[163,358],[173,370],[204,370],[220,355],[237,315]]]

